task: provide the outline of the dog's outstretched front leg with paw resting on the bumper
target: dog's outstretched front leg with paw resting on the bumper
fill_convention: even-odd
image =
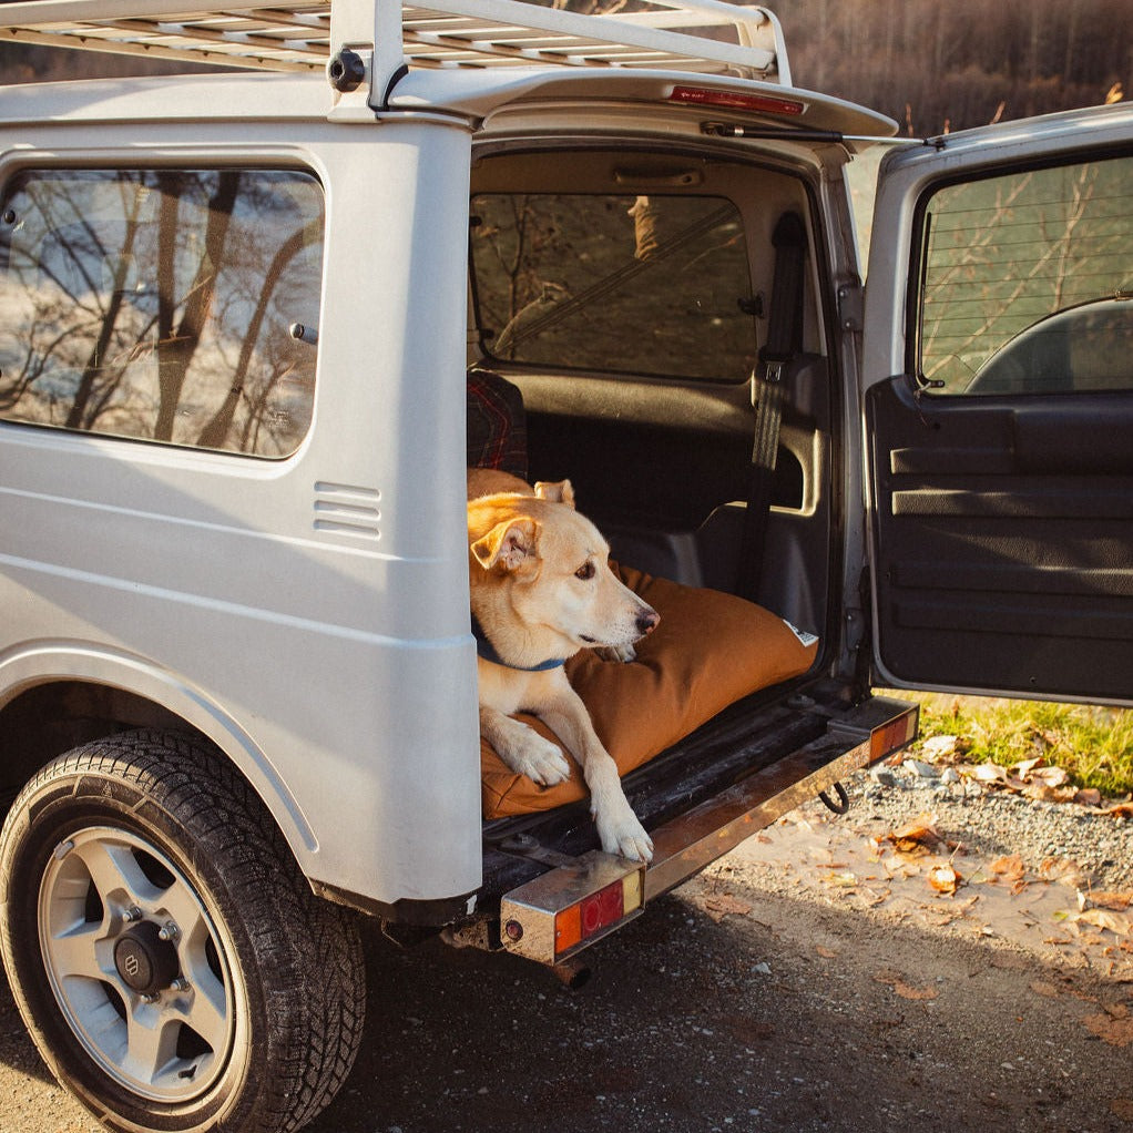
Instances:
[[[540,705],[538,714],[582,767],[602,849],[632,861],[653,861],[653,840],[633,813],[617,765],[594,731],[578,693],[568,687],[554,701]]]

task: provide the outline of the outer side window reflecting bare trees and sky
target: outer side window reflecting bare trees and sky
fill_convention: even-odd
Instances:
[[[284,457],[310,425],[323,194],[288,170],[31,170],[0,201],[0,417]]]

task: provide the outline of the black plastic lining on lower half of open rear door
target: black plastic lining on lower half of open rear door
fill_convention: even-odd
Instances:
[[[879,654],[900,683],[1133,696],[1133,395],[867,395]]]

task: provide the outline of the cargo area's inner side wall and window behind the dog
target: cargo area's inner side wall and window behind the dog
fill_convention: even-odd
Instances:
[[[533,482],[569,477],[621,561],[738,590],[752,375],[770,318],[773,233],[791,213],[808,215],[796,178],[702,156],[591,150],[474,165],[477,365],[520,391]],[[786,384],[768,569],[750,596],[820,633],[830,392],[813,295],[804,288]]]

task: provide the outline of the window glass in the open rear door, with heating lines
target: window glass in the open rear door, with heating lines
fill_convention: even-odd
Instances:
[[[936,394],[1133,389],[1133,157],[937,189],[918,374]]]

